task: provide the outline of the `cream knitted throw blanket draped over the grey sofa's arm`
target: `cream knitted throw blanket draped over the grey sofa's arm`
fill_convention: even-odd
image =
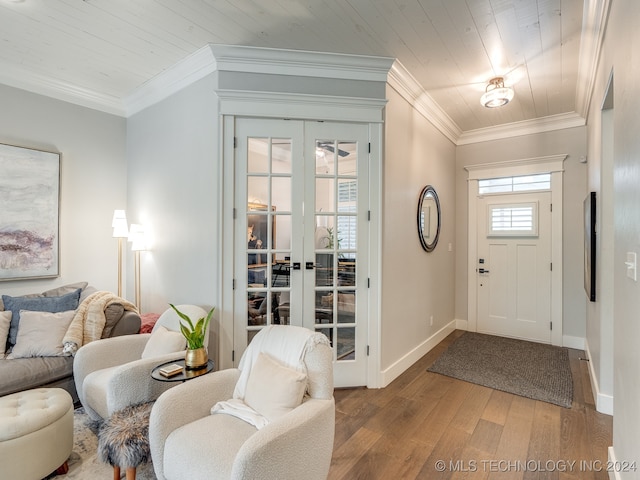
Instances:
[[[80,304],[71,320],[67,333],[62,339],[63,353],[75,355],[82,345],[99,340],[107,322],[104,311],[113,303],[121,304],[125,310],[138,311],[133,303],[111,292],[92,293]]]

